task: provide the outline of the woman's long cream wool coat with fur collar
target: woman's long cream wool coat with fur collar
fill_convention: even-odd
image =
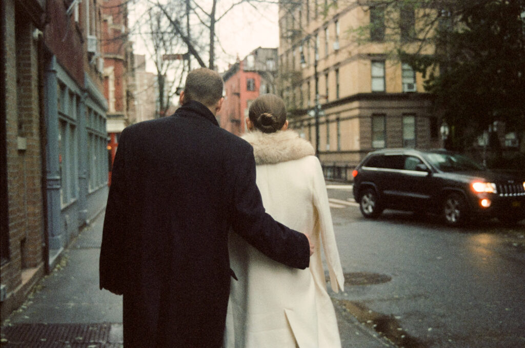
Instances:
[[[230,233],[230,267],[238,281],[232,279],[224,347],[341,347],[321,247],[335,292],[343,290],[344,278],[324,177],[313,147],[290,130],[255,131],[244,139],[254,147],[257,186],[267,212],[308,234],[316,252],[309,268],[292,269]]]

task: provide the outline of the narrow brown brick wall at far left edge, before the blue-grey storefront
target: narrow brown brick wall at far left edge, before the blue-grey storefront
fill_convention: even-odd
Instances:
[[[6,2],[5,10],[9,260],[1,278],[8,296],[17,297],[12,292],[22,285],[23,270],[41,268],[44,259],[38,65],[33,25],[16,13],[14,2]]]

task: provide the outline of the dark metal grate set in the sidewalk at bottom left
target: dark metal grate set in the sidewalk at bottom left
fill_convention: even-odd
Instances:
[[[118,348],[122,324],[13,324],[2,328],[2,348]]]

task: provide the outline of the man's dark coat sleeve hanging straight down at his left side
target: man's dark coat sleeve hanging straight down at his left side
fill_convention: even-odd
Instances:
[[[130,212],[126,159],[128,156],[127,136],[124,130],[119,139],[118,150],[111,172],[106,216],[100,247],[99,277],[100,289],[122,294],[127,280],[126,231]]]

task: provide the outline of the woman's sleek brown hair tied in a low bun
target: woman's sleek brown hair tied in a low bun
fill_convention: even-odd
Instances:
[[[285,102],[275,94],[262,94],[251,103],[248,117],[261,132],[277,132],[286,122]]]

